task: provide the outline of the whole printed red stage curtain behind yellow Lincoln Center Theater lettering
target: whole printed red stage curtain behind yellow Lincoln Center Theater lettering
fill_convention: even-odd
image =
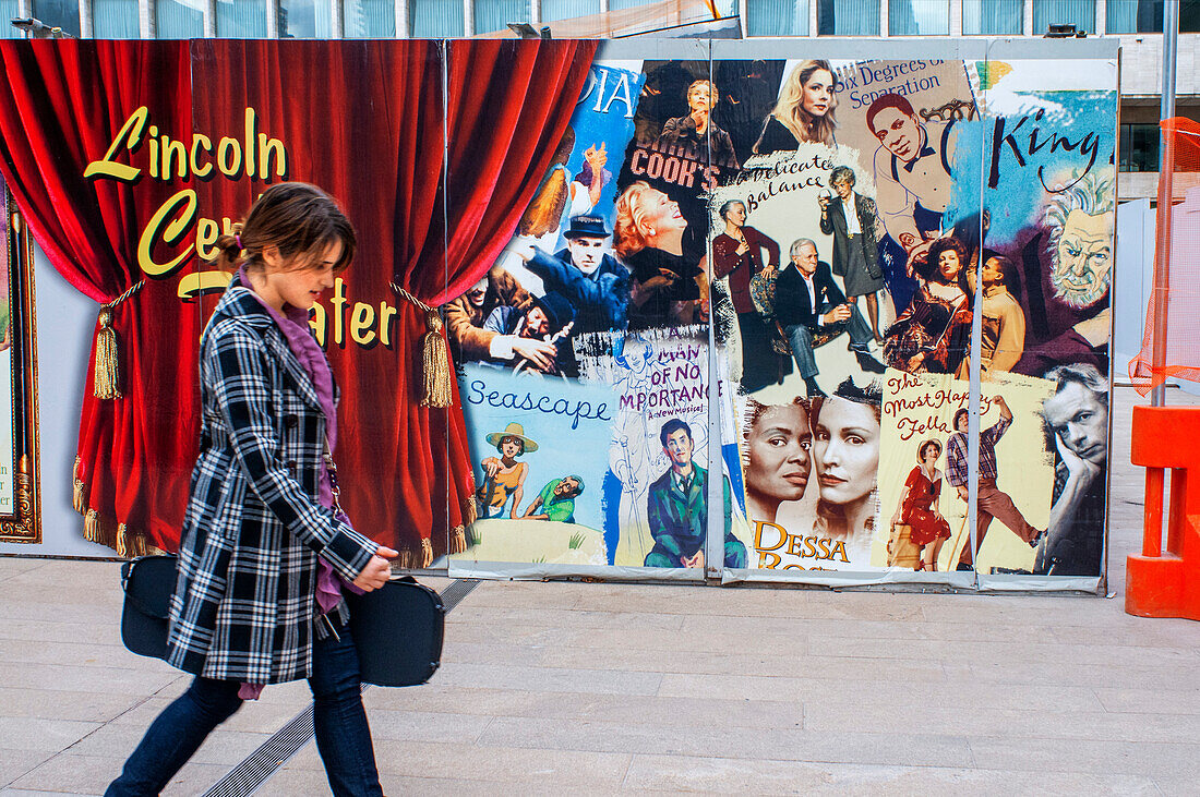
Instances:
[[[228,279],[202,261],[263,187],[287,179],[332,193],[360,237],[316,318],[343,391],[343,506],[402,564],[461,550],[473,518],[461,409],[419,405],[425,313],[391,284],[440,306],[487,270],[548,168],[594,50],[0,43],[2,168],[38,242],[97,301],[142,284],[114,310],[125,398],[94,399],[90,382],[85,393],[77,488],[95,538],[121,553],[178,545],[202,314]],[[143,107],[139,146],[127,151],[130,133],[119,133]],[[83,176],[110,145],[110,159],[140,167],[140,180]],[[151,273],[137,259],[144,229],[158,231],[143,258]]]

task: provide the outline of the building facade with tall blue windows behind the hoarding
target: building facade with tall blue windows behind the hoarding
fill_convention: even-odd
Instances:
[[[638,5],[643,0],[0,0],[5,17],[34,17],[85,38],[458,37]],[[1156,197],[1163,0],[719,0],[718,10],[739,16],[748,37],[1038,37],[1060,24],[1117,36],[1120,193]],[[1200,120],[1200,0],[1181,2],[1180,31],[1176,114]],[[8,26],[2,35],[23,34]]]

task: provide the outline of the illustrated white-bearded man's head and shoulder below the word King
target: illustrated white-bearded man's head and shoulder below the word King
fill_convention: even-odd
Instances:
[[[1108,372],[1115,206],[1115,180],[1094,173],[1051,195],[1043,215],[1054,289],[1048,314],[1064,310],[1060,314],[1074,322],[1028,348],[1014,368],[1018,373],[1038,376],[1062,362],[1086,362]]]

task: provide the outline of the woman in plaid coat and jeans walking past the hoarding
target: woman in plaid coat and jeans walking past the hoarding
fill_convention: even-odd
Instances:
[[[335,795],[382,795],[342,586],[368,591],[396,551],[354,531],[332,466],[337,386],[308,309],[354,255],[319,188],[268,188],[217,264],[238,267],[200,346],[192,471],[167,662],[196,676],[150,725],[108,795],[156,795],[263,687],[307,678]]]

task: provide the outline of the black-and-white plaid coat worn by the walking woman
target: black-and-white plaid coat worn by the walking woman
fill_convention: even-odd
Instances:
[[[241,285],[226,291],[204,332],[200,397],[167,662],[247,683],[308,677],[317,555],[353,581],[376,544],[318,502],[317,391]]]

